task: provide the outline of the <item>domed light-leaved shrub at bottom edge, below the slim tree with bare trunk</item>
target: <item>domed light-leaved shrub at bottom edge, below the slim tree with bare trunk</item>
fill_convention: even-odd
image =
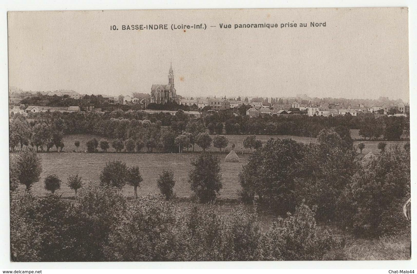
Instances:
[[[136,199],[115,223],[104,249],[110,261],[178,261],[173,206],[152,196]],[[181,247],[181,246],[180,246]]]

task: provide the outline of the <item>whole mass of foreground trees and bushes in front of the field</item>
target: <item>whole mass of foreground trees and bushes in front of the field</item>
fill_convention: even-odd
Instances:
[[[146,180],[143,166],[122,161],[107,162],[99,183],[83,184],[82,176],[69,174],[75,200],[56,194],[62,181],[54,174],[44,175],[50,194],[35,196],[41,158],[34,149],[22,148],[10,165],[12,259],[341,259],[352,257],[346,252],[360,253],[360,240],[352,243],[347,235],[364,239],[364,245],[370,239],[391,244],[392,250],[409,239],[410,224],[402,213],[410,195],[409,145],[379,145],[379,154],[362,159],[347,128],[323,129],[317,143],[270,139],[260,146],[252,137],[245,142],[255,150],[232,179],[241,186],[241,205],[226,215],[217,204],[224,178],[214,153],[198,153],[191,161],[186,181],[192,199],[184,207],[175,202],[176,178],[166,166],[156,180],[163,196],[137,197]],[[107,159],[107,153],[101,155]],[[17,191],[18,184],[26,191]],[[126,186],[133,198],[123,195]],[[275,221],[264,229],[259,214],[273,215]],[[319,229],[316,219],[336,226],[342,236]]]

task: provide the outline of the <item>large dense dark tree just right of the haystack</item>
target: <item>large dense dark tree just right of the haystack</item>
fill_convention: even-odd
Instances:
[[[270,139],[266,145],[249,156],[248,163],[239,174],[241,198],[279,208],[281,213],[293,211],[297,204],[296,184],[299,177],[296,165],[305,157],[304,145],[292,139]]]

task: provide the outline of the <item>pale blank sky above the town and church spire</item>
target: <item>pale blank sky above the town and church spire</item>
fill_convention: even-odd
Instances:
[[[407,8],[8,13],[9,85],[23,90],[409,101]],[[238,28],[241,23],[307,28]],[[326,27],[310,27],[310,22]],[[171,24],[207,25],[171,30]],[[220,29],[219,24],[231,24]],[[167,24],[168,30],[121,30]],[[110,30],[116,25],[119,30]],[[216,27],[210,27],[216,25]]]

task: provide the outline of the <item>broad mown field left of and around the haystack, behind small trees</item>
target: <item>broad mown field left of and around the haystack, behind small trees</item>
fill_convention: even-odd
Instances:
[[[108,161],[120,160],[127,166],[139,166],[143,182],[139,192],[141,194],[159,193],[156,185],[158,172],[170,168],[174,171],[176,185],[174,191],[178,197],[189,197],[191,195],[188,184],[188,172],[191,169],[191,159],[195,153],[183,154],[162,154],[162,153],[40,153],[42,157],[43,172],[40,181],[32,187],[37,195],[46,195],[48,191],[43,188],[43,180],[50,174],[57,174],[63,180],[58,193],[64,197],[73,196],[73,191],[66,186],[69,175],[80,174],[83,181],[99,181],[100,172]],[[241,163],[225,163],[226,154],[219,154],[221,159],[221,173],[223,176],[222,198],[237,198],[240,189],[238,175],[242,164],[246,163],[247,155],[241,157]],[[23,186],[21,186],[23,189]],[[133,187],[125,186],[123,192],[133,195]]]

